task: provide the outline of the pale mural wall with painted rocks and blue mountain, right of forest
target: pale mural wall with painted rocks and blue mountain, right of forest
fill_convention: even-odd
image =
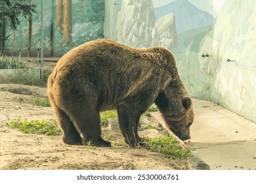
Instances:
[[[164,46],[192,97],[256,122],[256,1],[106,0],[104,35]]]

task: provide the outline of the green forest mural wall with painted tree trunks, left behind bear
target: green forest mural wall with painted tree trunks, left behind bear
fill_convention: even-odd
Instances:
[[[37,13],[31,18],[20,18],[17,31],[12,31],[5,42],[5,51],[23,56],[30,48],[35,56],[41,46],[41,1],[32,0]],[[104,0],[43,0],[44,56],[62,56],[70,49],[87,41],[103,37]]]

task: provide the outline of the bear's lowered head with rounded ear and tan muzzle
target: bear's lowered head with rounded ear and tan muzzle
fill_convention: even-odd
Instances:
[[[171,89],[171,88],[170,88]],[[156,106],[160,110],[167,129],[172,131],[179,139],[190,139],[190,125],[194,122],[192,100],[184,92],[165,90],[156,98]]]

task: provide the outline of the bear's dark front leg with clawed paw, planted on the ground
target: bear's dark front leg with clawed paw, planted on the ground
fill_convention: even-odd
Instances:
[[[132,148],[138,146],[146,146],[145,139],[142,139],[138,135],[139,119],[142,112],[134,111],[132,107],[126,105],[119,105],[117,107],[119,128],[125,142]]]

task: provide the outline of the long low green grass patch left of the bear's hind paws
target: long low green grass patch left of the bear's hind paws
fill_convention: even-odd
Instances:
[[[14,119],[9,125],[10,128],[18,128],[22,133],[60,135],[62,131],[57,122],[47,122],[45,120],[28,121],[27,119]]]

